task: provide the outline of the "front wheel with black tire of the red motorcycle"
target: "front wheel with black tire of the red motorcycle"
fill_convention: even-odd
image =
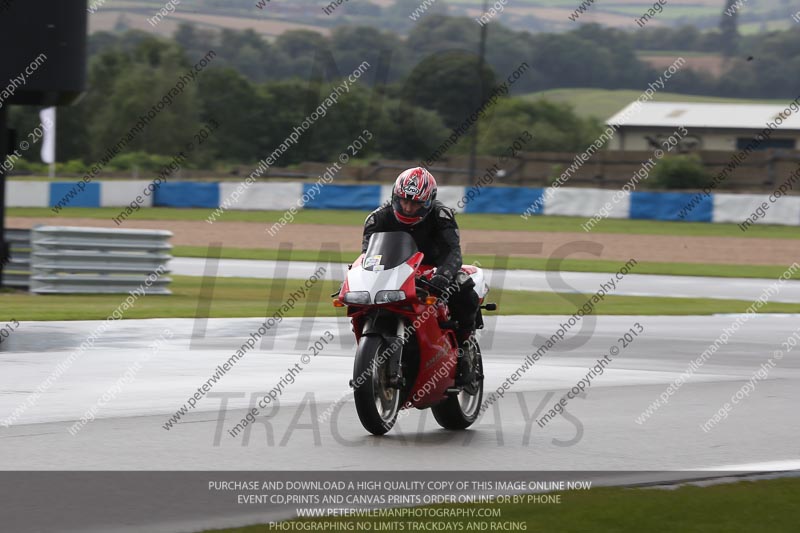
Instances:
[[[356,412],[361,425],[373,435],[383,435],[392,429],[400,410],[400,390],[389,386],[386,347],[382,337],[370,335],[361,337],[356,351],[353,376]],[[379,361],[382,353],[386,355]]]

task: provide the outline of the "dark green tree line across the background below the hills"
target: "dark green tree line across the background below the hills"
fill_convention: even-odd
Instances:
[[[96,161],[111,139],[169,90],[178,73],[191,69],[209,50],[216,53],[213,63],[109,168],[129,168],[150,156],[172,158],[209,120],[217,121],[219,129],[191,155],[189,166],[258,161],[364,61],[368,71],[282,156],[279,166],[330,161],[365,128],[374,140],[359,157],[421,160],[481,108],[487,95],[507,84],[522,63],[529,68],[478,120],[479,152],[500,155],[523,131],[534,137],[528,150],[578,151],[599,133],[596,120],[578,117],[564,104],[520,95],[564,87],[642,89],[658,72],[637,59],[638,50],[714,50],[720,39],[716,32],[691,28],[629,33],[585,24],[566,33],[531,34],[493,24],[478,75],[476,28],[471,19],[429,14],[406,38],[357,26],[336,28],[329,36],[289,31],[274,41],[251,30],[190,25],[180,26],[171,39],[140,31],[95,33],[89,39],[88,90],[77,104],[59,110],[58,161],[73,161],[76,167]],[[719,78],[682,69],[670,80],[670,91],[797,96],[800,29],[745,37],[739,46],[754,60],[731,58]],[[11,124],[20,137],[36,127],[36,111],[12,108]],[[445,156],[466,153],[468,144],[459,142]],[[35,160],[38,150],[25,156]]]

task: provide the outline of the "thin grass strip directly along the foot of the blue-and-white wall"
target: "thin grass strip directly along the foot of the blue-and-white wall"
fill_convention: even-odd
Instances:
[[[174,209],[166,207],[142,208],[132,215],[130,224],[136,220],[197,220],[205,221],[211,209]],[[14,207],[7,210],[10,217],[48,217],[48,218],[105,218],[111,219],[119,214],[118,207],[67,208],[56,215],[46,207]],[[272,225],[284,211],[226,211],[219,222],[256,222]],[[361,226],[366,211],[347,210],[301,210],[295,224],[325,224]],[[458,224],[462,229],[494,231],[544,231],[585,233],[581,224],[583,217],[533,216],[524,220],[519,215],[460,214]],[[625,233],[631,235],[672,235],[687,237],[741,237],[800,239],[800,231],[795,226],[757,225],[742,232],[736,224],[711,224],[704,222],[665,222],[660,220],[606,219],[597,226],[594,233]]]

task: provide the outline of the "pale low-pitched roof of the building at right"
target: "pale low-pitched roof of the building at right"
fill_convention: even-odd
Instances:
[[[644,102],[638,100],[609,118],[606,123],[613,126],[679,127],[716,129],[761,130],[773,122],[773,129],[800,130],[800,110],[792,111],[786,106],[767,104],[717,104],[696,102]],[[636,109],[638,107],[638,110]],[[795,107],[798,107],[795,104]],[[787,114],[790,113],[790,114]],[[775,117],[783,114],[783,124]],[[627,120],[625,119],[627,115]]]

